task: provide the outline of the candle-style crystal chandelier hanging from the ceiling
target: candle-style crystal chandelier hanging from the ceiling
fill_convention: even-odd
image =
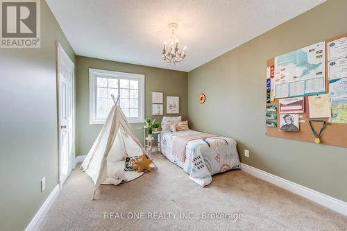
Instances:
[[[176,65],[176,63],[181,62],[185,59],[185,50],[187,49],[187,47],[185,46],[183,48],[183,53],[178,49],[178,39],[175,35],[178,24],[172,22],[171,24],[168,24],[167,27],[169,27],[171,35],[169,40],[164,42],[164,48],[162,49],[162,58],[164,59],[164,61],[169,62],[170,64],[171,62],[173,62],[174,65]]]

